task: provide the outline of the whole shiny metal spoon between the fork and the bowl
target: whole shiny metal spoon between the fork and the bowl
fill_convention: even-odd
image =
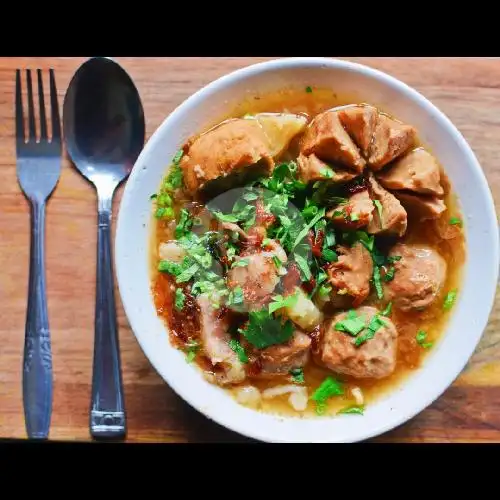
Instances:
[[[73,76],[64,100],[66,149],[96,188],[97,283],[90,432],[94,438],[126,434],[111,259],[111,211],[116,187],[132,170],[145,139],[137,88],[109,58],[92,58]]]

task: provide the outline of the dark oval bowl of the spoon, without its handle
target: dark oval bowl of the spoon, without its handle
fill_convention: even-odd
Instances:
[[[95,57],[80,66],[64,100],[64,135],[89,181],[106,176],[119,183],[129,175],[144,146],[145,120],[137,89],[120,65]]]

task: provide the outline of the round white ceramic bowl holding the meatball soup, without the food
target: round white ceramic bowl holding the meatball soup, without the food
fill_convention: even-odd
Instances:
[[[150,195],[180,145],[212,125],[248,94],[283,86],[331,87],[359,94],[417,127],[444,165],[465,218],[467,261],[463,284],[442,340],[424,366],[363,417],[282,418],[237,404],[206,382],[169,343],[157,317],[148,273]],[[388,431],[422,411],[454,381],[483,333],[492,308],[499,267],[495,208],[471,148],[433,104],[401,81],[366,66],[324,58],[278,59],[235,71],[182,103],[152,135],[134,166],[121,202],[116,236],[116,271],[128,320],[144,353],[185,401],[219,424],[268,442],[353,442]]]

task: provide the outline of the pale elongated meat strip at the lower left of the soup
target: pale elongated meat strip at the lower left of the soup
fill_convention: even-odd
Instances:
[[[200,337],[204,353],[215,369],[219,385],[237,384],[245,377],[245,369],[237,354],[229,347],[231,336],[228,332],[227,316],[212,307],[206,294],[196,298],[200,308]]]

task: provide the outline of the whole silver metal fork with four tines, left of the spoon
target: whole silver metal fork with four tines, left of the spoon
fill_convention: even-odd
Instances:
[[[21,71],[16,71],[17,178],[31,206],[28,307],[23,359],[23,404],[29,438],[46,439],[52,414],[52,349],[45,287],[45,205],[61,173],[61,125],[54,70],[50,70],[49,138],[42,71],[37,70],[39,139],[36,138],[31,70],[26,70],[28,127],[24,131]]]

